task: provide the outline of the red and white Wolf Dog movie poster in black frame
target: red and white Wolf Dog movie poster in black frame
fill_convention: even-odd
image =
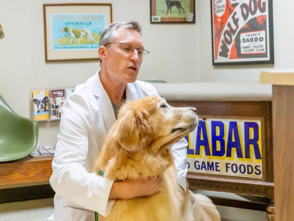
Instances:
[[[273,64],[273,1],[211,0],[213,65]]]

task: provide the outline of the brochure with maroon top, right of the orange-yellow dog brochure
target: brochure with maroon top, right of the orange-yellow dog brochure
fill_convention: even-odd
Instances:
[[[50,90],[50,119],[61,118],[61,108],[65,100],[65,90]]]

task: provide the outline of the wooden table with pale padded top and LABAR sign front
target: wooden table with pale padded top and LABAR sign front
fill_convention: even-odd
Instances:
[[[266,197],[269,202],[266,208],[268,220],[273,221],[271,85],[262,85],[258,82],[153,83],[153,85],[158,94],[166,98],[169,104],[177,107],[192,106],[197,108],[200,119],[198,128],[200,127],[200,129],[196,129],[195,133],[190,133],[186,138],[189,143],[187,153],[190,153],[187,155],[189,188]],[[256,155],[253,157],[253,145],[248,146],[247,144],[246,148],[245,137],[248,139],[255,137],[252,135],[252,131],[250,132],[251,138],[248,133],[245,135],[244,125],[245,123],[248,125],[250,122],[258,124],[256,131],[259,131],[257,137],[260,139],[258,144],[260,158],[256,158]],[[223,125],[223,129],[216,126],[216,123]],[[233,130],[231,127],[233,124],[235,125],[234,134],[230,133]],[[222,131],[222,137],[220,137],[220,131]],[[206,139],[204,139],[204,134]],[[216,136],[220,137],[222,145],[220,140],[216,141]],[[246,149],[249,152],[251,150],[252,154],[247,157],[245,155],[239,157],[236,152],[233,157],[224,154],[228,151],[229,141],[230,147],[236,151],[237,147],[231,145],[235,142],[233,136],[242,143],[239,150],[243,153],[246,152]],[[216,142],[218,143],[216,144]],[[214,153],[220,149],[225,151],[221,155],[214,155],[213,143],[216,148]],[[203,166],[203,163],[207,165],[207,168]],[[247,171],[239,169],[239,174],[236,174],[233,170],[227,170],[227,164],[232,166],[234,164],[241,169],[246,166]],[[214,169],[212,165],[214,165]],[[218,170],[216,165],[219,165]],[[260,176],[250,175],[248,168],[252,165],[254,168],[260,166],[262,171]],[[237,204],[235,206],[238,207]]]

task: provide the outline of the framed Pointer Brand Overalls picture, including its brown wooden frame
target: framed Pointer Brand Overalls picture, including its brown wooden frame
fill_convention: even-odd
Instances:
[[[99,59],[104,27],[112,22],[111,4],[44,4],[45,60]]]

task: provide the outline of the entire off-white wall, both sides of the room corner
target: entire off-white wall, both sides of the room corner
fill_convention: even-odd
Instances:
[[[55,0],[54,3],[79,0]],[[294,68],[292,1],[274,1],[275,65],[213,67],[210,1],[196,0],[196,24],[150,24],[149,0],[96,0],[112,3],[113,21],[137,20],[143,27],[145,48],[139,80],[169,83],[196,81],[258,81],[265,69]],[[72,87],[84,83],[99,68],[99,61],[45,62],[44,0],[0,0],[0,95],[16,113],[30,116],[31,89]],[[40,122],[39,145],[57,141],[59,121]]]

